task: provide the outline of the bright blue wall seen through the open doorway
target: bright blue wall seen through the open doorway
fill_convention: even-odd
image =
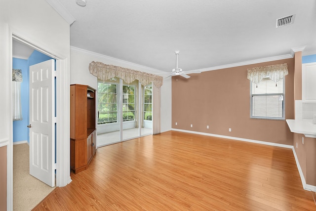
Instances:
[[[38,64],[43,61],[52,59],[51,57],[34,50],[28,60],[13,58],[13,69],[21,69],[23,82],[21,84],[21,104],[22,104],[22,117],[21,121],[13,121],[13,142],[27,141],[29,139],[29,66]]]

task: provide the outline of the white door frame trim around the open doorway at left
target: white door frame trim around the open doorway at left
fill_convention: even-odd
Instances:
[[[39,43],[28,42],[23,39],[17,32],[8,27],[9,46],[8,50],[12,55],[12,39],[22,42],[30,47],[56,59],[56,186],[63,187],[69,184],[70,178],[70,69],[69,59],[60,55],[58,52],[49,52],[40,47]],[[12,80],[12,56],[9,61],[9,79]],[[12,83],[9,83],[12,84]],[[12,93],[12,85],[10,85],[10,93]],[[10,100],[10,108],[12,108],[12,100]],[[12,109],[10,110],[12,117]],[[8,144],[7,155],[7,208],[12,208],[13,204],[13,128],[10,127],[10,139]]]

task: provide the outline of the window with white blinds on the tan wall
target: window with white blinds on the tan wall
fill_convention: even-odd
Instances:
[[[250,118],[284,120],[284,79],[250,82]]]

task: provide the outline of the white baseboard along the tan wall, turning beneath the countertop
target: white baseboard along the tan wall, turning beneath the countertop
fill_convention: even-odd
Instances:
[[[195,134],[207,135],[207,136],[214,136],[214,137],[219,137],[219,138],[227,138],[227,139],[233,139],[233,140],[238,140],[238,141],[246,141],[246,142],[251,142],[251,143],[264,144],[264,145],[270,145],[270,146],[277,146],[277,147],[283,147],[283,148],[292,149],[293,155],[294,155],[294,158],[295,158],[295,162],[296,162],[296,166],[297,166],[298,172],[300,174],[304,190],[316,192],[316,186],[306,184],[306,180],[305,180],[302,168],[300,166],[300,163],[298,162],[298,158],[297,158],[296,152],[294,150],[294,146],[292,146],[292,145],[278,144],[278,143],[272,143],[272,142],[267,142],[267,141],[258,141],[258,140],[245,139],[245,138],[237,138],[237,137],[232,137],[232,136],[217,135],[217,134],[212,134],[212,133],[197,132],[197,131],[183,130],[183,129],[171,128],[171,130],[180,131],[180,132],[195,133]]]

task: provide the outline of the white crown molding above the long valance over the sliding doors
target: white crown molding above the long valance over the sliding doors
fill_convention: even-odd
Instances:
[[[92,51],[84,50],[82,48],[78,48],[78,47],[74,47],[74,46],[70,46],[70,51],[77,51],[77,52],[80,52],[80,53],[83,53],[83,54],[86,54],[86,55],[89,55],[89,56],[98,57],[98,58],[101,58],[101,59],[106,59],[106,60],[111,61],[113,63],[121,63],[121,64],[126,64],[126,65],[132,65],[132,66],[134,66],[133,69],[140,68],[140,69],[146,69],[146,70],[149,70],[149,71],[155,72],[155,73],[157,73],[157,72],[158,73],[166,73],[164,71],[157,70],[157,69],[154,69],[154,68],[151,68],[151,67],[146,67],[146,66],[143,66],[143,65],[139,65],[139,64],[132,63],[132,62],[124,61],[124,60],[117,59],[117,58],[114,58],[114,57],[111,57],[111,56],[106,56],[106,55],[103,55],[103,54],[100,54],[100,53],[95,53],[95,52],[92,52]]]

